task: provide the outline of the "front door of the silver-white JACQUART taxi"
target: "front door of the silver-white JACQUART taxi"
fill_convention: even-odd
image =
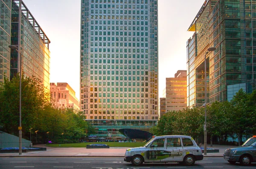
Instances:
[[[165,138],[159,138],[151,143],[145,152],[145,162],[165,162]]]

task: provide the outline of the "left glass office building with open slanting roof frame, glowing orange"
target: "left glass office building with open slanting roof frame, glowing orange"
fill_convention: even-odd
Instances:
[[[12,0],[11,45],[18,47],[25,77],[38,77],[49,90],[50,40],[22,0]],[[10,79],[20,72],[20,54],[11,50]]]

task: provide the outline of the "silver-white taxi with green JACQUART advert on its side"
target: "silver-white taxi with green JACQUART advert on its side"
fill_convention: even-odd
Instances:
[[[192,166],[204,156],[195,140],[186,135],[165,135],[153,137],[143,147],[126,149],[124,161],[135,166],[143,163],[178,162]]]

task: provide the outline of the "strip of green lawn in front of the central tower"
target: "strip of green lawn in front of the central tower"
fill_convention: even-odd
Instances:
[[[66,144],[46,144],[50,147],[86,147],[89,144],[107,144],[110,147],[140,147],[144,146],[147,142],[136,143],[119,143],[119,142],[87,142],[87,143],[66,143]]]

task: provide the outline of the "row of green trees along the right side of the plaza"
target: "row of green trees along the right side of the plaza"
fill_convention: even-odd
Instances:
[[[205,107],[193,107],[167,112],[151,128],[154,135],[190,135],[195,139],[204,135]],[[215,102],[207,106],[207,135],[226,141],[228,136],[252,135],[256,132],[256,90],[236,93],[230,102]],[[202,140],[201,140],[202,141]]]

